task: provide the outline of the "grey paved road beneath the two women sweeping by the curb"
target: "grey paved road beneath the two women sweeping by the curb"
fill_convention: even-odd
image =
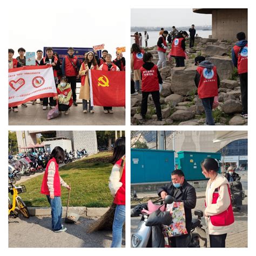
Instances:
[[[64,224],[68,230],[51,231],[51,217],[9,219],[9,247],[110,247],[112,231],[86,233],[92,219],[80,218],[80,224]],[[64,219],[63,219],[64,223]],[[122,247],[125,247],[123,232]]]

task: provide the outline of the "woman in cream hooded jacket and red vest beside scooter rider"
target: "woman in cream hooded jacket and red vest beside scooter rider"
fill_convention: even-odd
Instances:
[[[208,224],[210,247],[225,247],[227,233],[232,231],[234,214],[230,184],[219,172],[219,160],[204,159],[202,173],[208,178],[205,191],[205,219]]]

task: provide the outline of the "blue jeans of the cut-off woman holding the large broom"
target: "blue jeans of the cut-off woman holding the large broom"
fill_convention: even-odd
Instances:
[[[117,205],[114,212],[113,221],[113,240],[111,247],[121,247],[122,245],[122,231],[125,222],[125,205]]]

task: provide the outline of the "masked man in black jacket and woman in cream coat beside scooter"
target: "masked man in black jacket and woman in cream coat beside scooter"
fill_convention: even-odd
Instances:
[[[219,173],[219,160],[206,158],[201,163],[204,176],[209,179],[205,191],[205,221],[210,236],[210,247],[225,247],[227,233],[232,231],[234,214],[231,201],[230,184]],[[228,172],[230,172],[228,170]],[[232,176],[233,174],[227,173]],[[182,170],[174,170],[172,182],[158,190],[158,196],[165,199],[167,195],[174,202],[183,202],[185,209],[187,234],[171,238],[172,247],[188,247],[191,241],[192,209],[196,207],[197,195],[195,188],[190,185]]]

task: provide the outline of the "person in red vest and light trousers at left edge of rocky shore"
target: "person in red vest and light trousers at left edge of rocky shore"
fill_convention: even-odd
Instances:
[[[140,67],[143,65],[144,50],[140,49],[137,44],[132,44],[131,48],[131,70],[133,70],[133,81],[135,90],[139,92],[139,81],[142,79],[140,75]],[[138,94],[138,93],[137,93]]]

